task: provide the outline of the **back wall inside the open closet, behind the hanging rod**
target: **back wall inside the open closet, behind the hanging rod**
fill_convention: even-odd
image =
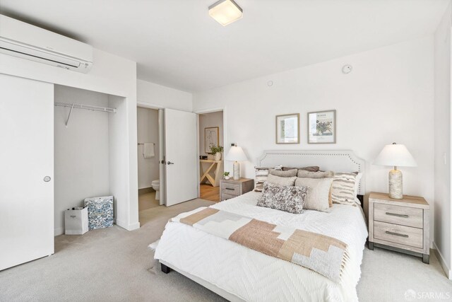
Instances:
[[[108,95],[54,86],[54,100],[108,106]],[[83,205],[87,197],[106,196],[109,190],[109,113],[54,108],[55,236],[64,233],[64,210]]]

